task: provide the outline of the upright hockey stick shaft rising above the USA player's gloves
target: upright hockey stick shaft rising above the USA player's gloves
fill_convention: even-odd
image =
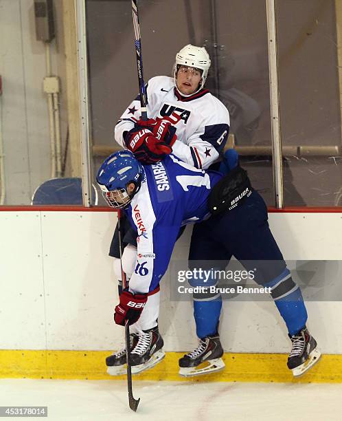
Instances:
[[[135,53],[137,58],[137,70],[139,80],[139,94],[140,94],[140,107],[141,107],[141,120],[147,120],[146,110],[146,88],[144,83],[143,67],[142,67],[142,54],[141,54],[141,38],[140,38],[140,23],[138,14],[137,0],[132,0],[132,14],[133,14],[133,30],[135,37]]]

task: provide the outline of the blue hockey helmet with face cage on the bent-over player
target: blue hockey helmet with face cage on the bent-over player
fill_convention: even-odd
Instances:
[[[112,153],[104,160],[96,181],[102,195],[112,208],[125,208],[139,190],[144,179],[144,168],[132,152],[124,150]],[[135,188],[128,193],[127,185],[133,183]]]

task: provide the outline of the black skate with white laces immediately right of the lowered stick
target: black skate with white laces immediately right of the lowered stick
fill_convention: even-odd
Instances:
[[[158,326],[138,334],[138,341],[130,353],[132,374],[155,367],[165,357],[164,341],[159,334]]]

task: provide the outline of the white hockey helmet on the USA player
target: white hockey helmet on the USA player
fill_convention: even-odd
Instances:
[[[210,67],[211,61],[207,50],[205,47],[196,47],[196,45],[187,44],[185,47],[181,49],[176,54],[176,63],[174,65],[174,85],[176,86],[177,91],[179,91],[176,83],[176,74],[179,65],[189,66],[189,67],[196,67],[196,69],[202,70],[202,80],[196,92],[203,88],[205,84],[205,80],[207,79],[208,70]],[[196,94],[194,92],[194,94]],[[184,95],[179,91],[179,94],[182,96],[191,96],[191,95]]]

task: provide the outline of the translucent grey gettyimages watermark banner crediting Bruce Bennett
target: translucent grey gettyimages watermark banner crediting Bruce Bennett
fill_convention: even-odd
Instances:
[[[243,266],[242,266],[243,263]],[[170,300],[270,301],[267,283],[290,270],[306,301],[342,301],[342,261],[171,261]],[[266,285],[265,285],[266,284]]]

